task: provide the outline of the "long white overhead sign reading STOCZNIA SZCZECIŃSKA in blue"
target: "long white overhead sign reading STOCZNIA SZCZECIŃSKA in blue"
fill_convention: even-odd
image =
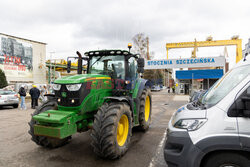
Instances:
[[[145,61],[145,69],[224,67],[224,66],[225,66],[225,57],[223,56]]]

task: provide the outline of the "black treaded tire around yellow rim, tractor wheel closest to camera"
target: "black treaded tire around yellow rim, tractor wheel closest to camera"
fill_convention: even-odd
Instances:
[[[116,145],[116,124],[118,123],[118,112],[126,111],[129,117],[130,129],[127,141],[122,148]],[[119,121],[119,120],[118,120]],[[94,152],[102,157],[108,159],[120,158],[128,149],[130,138],[132,136],[132,118],[131,111],[127,104],[118,103],[104,103],[95,115],[93,129],[91,132],[92,147]]]

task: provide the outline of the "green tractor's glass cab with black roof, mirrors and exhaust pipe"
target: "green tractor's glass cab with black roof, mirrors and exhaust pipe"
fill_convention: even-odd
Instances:
[[[88,74],[108,75],[112,79],[133,80],[138,78],[138,73],[144,72],[144,59],[138,54],[132,54],[126,50],[97,50],[86,52],[82,57],[77,52],[78,64],[82,65],[82,60],[87,61]],[[71,57],[70,57],[71,58]],[[76,58],[76,57],[74,57]],[[68,73],[71,62],[68,61]],[[79,65],[78,65],[79,67]],[[78,74],[82,73],[82,68]]]

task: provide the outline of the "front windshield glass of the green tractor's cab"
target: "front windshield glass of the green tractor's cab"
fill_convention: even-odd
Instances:
[[[92,56],[89,62],[89,74],[104,74],[112,78],[125,79],[125,59],[121,55]]]

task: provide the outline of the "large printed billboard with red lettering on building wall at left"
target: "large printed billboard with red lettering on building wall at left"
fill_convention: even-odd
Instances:
[[[7,77],[33,77],[32,44],[0,35],[0,68]]]

